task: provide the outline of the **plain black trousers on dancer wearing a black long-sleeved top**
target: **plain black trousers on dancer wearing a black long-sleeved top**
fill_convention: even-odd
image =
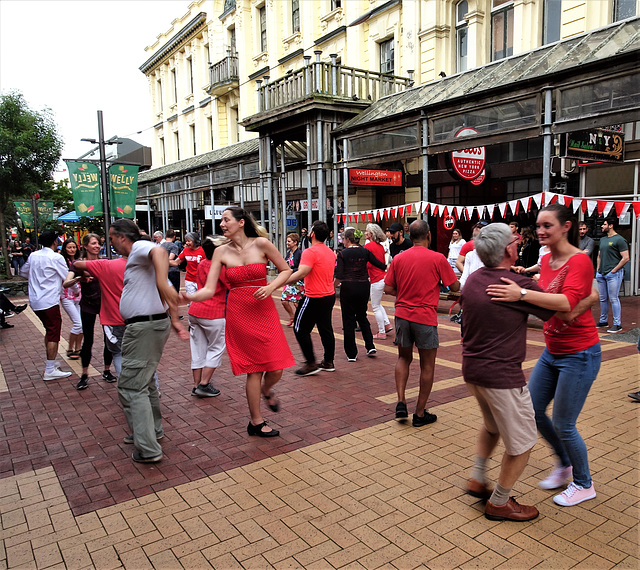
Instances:
[[[342,309],[342,329],[344,352],[347,358],[358,356],[356,344],[356,322],[362,330],[362,338],[367,351],[375,348],[371,325],[367,318],[367,305],[371,285],[368,281],[343,281],[340,284],[340,308]]]

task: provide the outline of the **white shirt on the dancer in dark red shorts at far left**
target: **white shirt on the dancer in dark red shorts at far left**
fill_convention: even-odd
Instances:
[[[29,304],[34,311],[44,311],[60,303],[62,282],[69,269],[60,254],[50,247],[34,251],[20,269],[29,279]]]

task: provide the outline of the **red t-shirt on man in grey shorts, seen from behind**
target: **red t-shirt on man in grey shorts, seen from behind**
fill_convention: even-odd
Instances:
[[[448,287],[456,280],[444,255],[414,245],[393,258],[384,282],[397,291],[396,317],[437,326],[440,283]]]

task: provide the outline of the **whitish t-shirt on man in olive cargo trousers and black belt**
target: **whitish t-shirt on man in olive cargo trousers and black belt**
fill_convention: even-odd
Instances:
[[[156,270],[149,252],[157,244],[140,240],[133,244],[124,269],[124,287],[120,298],[123,319],[156,315],[167,310],[156,285]]]

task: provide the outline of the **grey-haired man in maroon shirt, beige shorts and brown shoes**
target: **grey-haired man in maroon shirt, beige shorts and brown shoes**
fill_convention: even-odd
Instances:
[[[524,291],[522,298],[528,289],[541,291],[528,277],[509,271],[518,258],[518,238],[509,226],[490,224],[474,243],[485,267],[469,276],[460,297],[464,311],[462,374],[480,405],[484,424],[467,493],[488,499],[485,516],[490,520],[527,521],[538,516],[538,509],[520,505],[509,496],[538,441],[533,404],[522,372],[527,319],[533,314],[547,320],[554,312],[524,301],[497,303],[487,295],[487,286],[501,283],[501,277],[518,283]],[[491,492],[485,483],[485,465],[500,437],[505,453],[498,483]]]

